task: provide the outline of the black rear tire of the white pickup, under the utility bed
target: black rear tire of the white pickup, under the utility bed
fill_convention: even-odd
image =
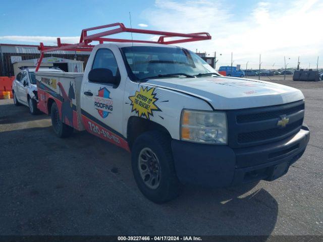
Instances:
[[[62,122],[56,102],[51,105],[50,116],[52,128],[59,138],[66,138],[73,134],[73,128]]]

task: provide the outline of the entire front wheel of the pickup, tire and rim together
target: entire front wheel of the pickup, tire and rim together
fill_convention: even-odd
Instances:
[[[146,198],[165,203],[179,195],[181,185],[167,134],[149,131],[140,135],[132,147],[131,163],[138,188]]]

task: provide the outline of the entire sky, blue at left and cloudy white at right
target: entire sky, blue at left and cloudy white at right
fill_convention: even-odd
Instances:
[[[230,65],[233,52],[234,65],[242,67],[249,62],[248,67],[257,68],[260,53],[264,68],[283,67],[284,55],[288,67],[296,66],[298,55],[301,67],[313,68],[317,56],[323,67],[318,26],[323,0],[2,1],[0,43],[55,44],[56,37],[76,42],[83,28],[114,22],[130,26],[129,12],[133,28],[209,32],[212,40],[182,46],[222,53],[220,65]],[[315,35],[306,36],[309,32]]]

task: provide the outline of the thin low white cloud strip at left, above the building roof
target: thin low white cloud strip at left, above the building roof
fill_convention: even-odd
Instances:
[[[20,36],[20,35],[11,35],[11,36],[0,36],[0,40],[7,41],[17,41],[17,42],[35,42],[44,44],[57,44],[57,37],[51,36]],[[61,37],[62,43],[77,43],[79,42],[80,37]]]

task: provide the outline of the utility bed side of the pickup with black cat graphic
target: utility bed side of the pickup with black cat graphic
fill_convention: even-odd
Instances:
[[[83,73],[36,72],[38,105],[40,111],[49,113],[55,101],[63,123],[76,130],[84,130],[81,119],[81,84]]]

